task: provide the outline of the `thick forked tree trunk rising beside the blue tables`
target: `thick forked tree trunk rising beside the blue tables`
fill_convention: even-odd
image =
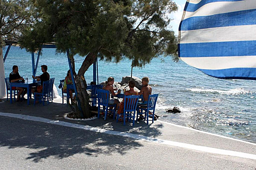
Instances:
[[[76,81],[76,90],[77,90],[77,96],[76,99],[81,104],[81,110],[83,112],[84,117],[83,118],[89,118],[90,117],[90,105],[89,105],[89,95],[86,91],[87,89],[87,83],[84,79],[84,73],[87,71],[87,69],[90,67],[90,65],[93,64],[93,62],[96,59],[96,53],[89,53],[82,63],[78,74],[76,74],[75,68],[73,66],[73,74]],[[70,60],[72,62],[72,65],[75,65],[73,56],[70,55]],[[76,113],[76,116],[81,117],[80,113]]]

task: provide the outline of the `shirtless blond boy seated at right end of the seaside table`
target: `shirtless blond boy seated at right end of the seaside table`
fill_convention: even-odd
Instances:
[[[139,102],[138,105],[147,105],[148,104],[148,96],[151,95],[152,88],[148,85],[149,78],[143,77],[142,79],[142,85],[141,91],[139,95],[143,94],[143,102]]]

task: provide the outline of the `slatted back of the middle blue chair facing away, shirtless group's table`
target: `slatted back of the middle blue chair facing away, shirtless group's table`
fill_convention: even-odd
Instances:
[[[124,96],[124,113],[136,111],[138,104],[139,96],[137,95],[129,95]]]

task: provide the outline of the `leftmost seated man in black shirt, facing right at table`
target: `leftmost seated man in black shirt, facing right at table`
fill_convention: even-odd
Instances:
[[[17,82],[20,80],[24,80],[22,77],[20,77],[20,74],[18,71],[19,71],[19,68],[17,65],[12,66],[12,73],[10,73],[10,75],[9,75],[10,82]],[[10,90],[19,91],[18,95],[17,95],[17,102],[21,102],[20,96],[22,95],[22,97],[24,98],[24,95],[26,94],[26,91],[27,91],[26,88],[19,88],[19,87],[12,87],[12,89],[10,89]],[[26,100],[26,99],[24,99],[24,100]]]

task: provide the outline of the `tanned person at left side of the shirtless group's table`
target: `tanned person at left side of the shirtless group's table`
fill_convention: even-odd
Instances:
[[[114,78],[108,77],[108,81],[105,82],[103,89],[109,91],[109,94],[111,94],[112,96],[116,96],[117,94],[120,94],[121,91],[117,91],[117,93],[115,93],[113,84],[114,84]],[[118,108],[120,105],[120,102],[117,99],[108,99],[108,104],[116,104],[116,108]]]

